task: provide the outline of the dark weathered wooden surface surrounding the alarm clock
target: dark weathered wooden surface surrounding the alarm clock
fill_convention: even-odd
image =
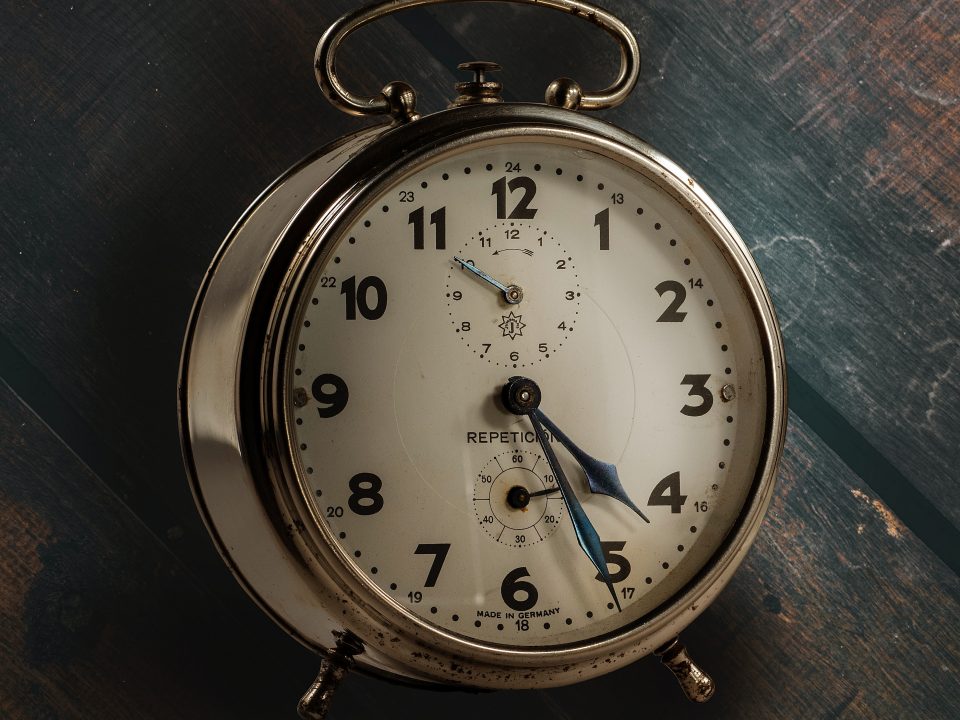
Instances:
[[[358,126],[311,68],[356,7],[0,5],[0,717],[292,718],[317,659],[247,599],[194,509],[182,334],[243,208]],[[960,717],[960,5],[609,0],[644,53],[604,117],[690,170],[780,315],[790,430],[731,585],[654,659],[481,695],[351,676],[346,718]],[[364,29],[344,74],[422,106],[494,59],[511,99],[606,84],[605,36],[464,4]]]

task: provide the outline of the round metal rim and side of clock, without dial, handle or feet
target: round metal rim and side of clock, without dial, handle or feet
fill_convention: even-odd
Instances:
[[[288,447],[282,402],[286,397],[282,348],[298,293],[336,241],[338,228],[369,198],[425,162],[468,145],[531,140],[607,155],[655,182],[708,228],[749,298],[767,374],[767,437],[753,487],[737,524],[710,562],[658,611],[630,629],[573,646],[536,650],[485,645],[432,626],[356,571],[305,501],[302,475]],[[366,145],[368,141],[358,141],[349,161],[318,180],[319,189],[304,195],[305,201],[279,230],[276,223],[281,218],[273,217],[277,207],[289,210],[296,204],[281,197],[290,194],[284,192],[285,186],[302,193],[322,173],[304,177],[316,172],[308,165],[264,196],[248,222],[267,213],[276,238],[269,243],[260,240],[259,258],[257,252],[243,258],[240,245],[257,243],[250,239],[252,228],[241,222],[228,238],[220,262],[211,268],[194,310],[181,370],[182,432],[197,502],[221,553],[261,606],[301,642],[326,652],[334,643],[333,633],[349,630],[365,646],[357,662],[394,676],[488,688],[561,685],[650,653],[692,622],[730,580],[759,530],[774,488],[786,428],[783,344],[769,296],[746,246],[706,193],[672,161],[617,128],[569,111],[542,105],[466,107],[387,132],[373,146]],[[298,180],[302,187],[297,186]],[[244,289],[231,287],[237,284],[231,276],[244,265],[251,265],[246,269],[256,280]],[[225,304],[228,299],[232,305]],[[245,308],[245,319],[238,322],[233,317],[228,322],[231,328],[239,328],[238,338],[225,338],[222,332],[219,337],[207,336],[205,330],[223,321],[222,308],[239,306]],[[224,348],[224,341],[230,347]],[[203,373],[197,373],[194,364],[209,364],[225,354],[232,358],[237,380],[229,400],[218,397],[214,402],[207,388],[198,384]],[[220,382],[221,388],[225,385]],[[216,427],[221,428],[221,437],[214,442],[210,434]],[[223,432],[227,427],[231,431]],[[244,494],[249,522],[242,533],[236,523],[224,518],[226,510],[218,505],[224,501],[219,486],[228,476],[243,479],[237,485]],[[272,549],[265,554],[265,547]],[[273,558],[270,579],[264,577],[265,557]],[[278,587],[287,592],[278,592]],[[302,593],[309,593],[310,600],[295,607],[294,598]]]

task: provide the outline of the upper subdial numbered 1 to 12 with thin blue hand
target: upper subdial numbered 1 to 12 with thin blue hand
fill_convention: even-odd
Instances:
[[[464,346],[510,369],[557,353],[580,316],[572,255],[545,230],[513,220],[478,232],[451,255],[445,294]]]

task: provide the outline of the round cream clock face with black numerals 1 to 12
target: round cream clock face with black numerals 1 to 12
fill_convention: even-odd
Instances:
[[[501,142],[414,170],[331,242],[287,351],[291,447],[399,607],[490,645],[584,643],[717,553],[767,373],[741,281],[678,202],[596,151]],[[542,416],[504,404],[513,377]]]

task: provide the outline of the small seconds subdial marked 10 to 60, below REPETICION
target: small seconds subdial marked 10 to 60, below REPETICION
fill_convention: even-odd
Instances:
[[[509,450],[493,457],[474,482],[480,527],[503,545],[526,547],[546,540],[563,515],[560,488],[541,455]]]

